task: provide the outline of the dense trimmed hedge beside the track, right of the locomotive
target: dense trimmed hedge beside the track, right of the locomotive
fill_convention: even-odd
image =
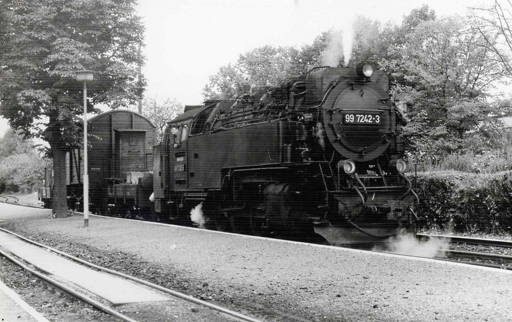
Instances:
[[[415,185],[417,213],[429,227],[503,231],[512,226],[512,171],[422,172]]]

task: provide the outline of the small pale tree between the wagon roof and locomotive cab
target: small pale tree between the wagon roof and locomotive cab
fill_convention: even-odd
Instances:
[[[167,122],[183,113],[184,106],[176,100],[166,97],[152,97],[142,102],[142,114],[157,127],[157,141],[162,141]]]

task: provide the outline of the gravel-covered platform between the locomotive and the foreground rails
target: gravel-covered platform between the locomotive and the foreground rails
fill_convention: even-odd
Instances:
[[[512,320],[508,271],[18,208],[0,227],[263,320]]]

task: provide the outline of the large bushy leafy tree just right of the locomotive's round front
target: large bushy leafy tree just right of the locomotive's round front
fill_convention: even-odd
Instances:
[[[429,20],[394,47],[401,59],[390,70],[407,81],[397,85],[396,95],[411,118],[404,135],[420,152],[464,152],[497,143],[492,136],[467,135],[490,131],[495,117],[504,115],[486,100],[501,77],[496,54],[481,46],[485,37],[467,27],[457,16]]]

